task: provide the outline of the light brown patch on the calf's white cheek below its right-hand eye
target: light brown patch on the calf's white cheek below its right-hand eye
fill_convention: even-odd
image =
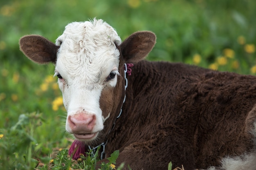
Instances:
[[[99,99],[99,105],[102,110],[102,116],[106,119],[110,112],[112,111],[112,106],[113,106],[113,87],[106,86],[103,88],[101,91],[101,97]]]

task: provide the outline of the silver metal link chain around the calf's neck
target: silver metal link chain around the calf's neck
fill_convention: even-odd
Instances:
[[[127,65],[126,65],[126,63],[124,63],[124,80],[125,80],[125,85],[124,85],[124,100],[123,100],[123,103],[122,103],[122,106],[121,106],[120,113],[119,113],[119,115],[117,116],[117,118],[115,119],[115,122],[114,122],[114,124],[113,124],[111,130],[108,132],[108,134],[114,129],[115,124],[116,124],[116,121],[117,121],[117,119],[121,116],[122,111],[123,111],[122,108],[123,108],[124,102],[125,102],[125,100],[126,100],[126,88],[127,88],[127,86],[128,86],[128,79],[126,78],[126,73],[127,73]],[[101,152],[101,160],[104,159],[105,156],[106,156],[106,154],[105,154],[105,146],[106,146],[107,143],[108,143],[108,140],[107,140],[106,142],[103,142],[102,144],[99,144],[98,146],[96,146],[96,147],[94,147],[94,148],[91,148],[90,146],[88,146],[89,149],[92,150],[92,157],[94,157],[94,155],[95,155],[97,149],[98,149],[100,146],[103,146],[103,150],[102,150],[102,152]]]

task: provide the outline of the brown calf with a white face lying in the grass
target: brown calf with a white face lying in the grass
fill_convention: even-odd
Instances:
[[[106,157],[119,150],[117,166],[256,170],[256,77],[142,61],[155,42],[149,31],[121,42],[94,19],[68,24],[56,44],[24,36],[20,50],[56,64],[67,132]]]

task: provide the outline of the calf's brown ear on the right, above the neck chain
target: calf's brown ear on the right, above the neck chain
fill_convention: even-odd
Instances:
[[[121,53],[127,63],[137,63],[143,60],[156,43],[155,33],[139,31],[130,35],[121,44]]]

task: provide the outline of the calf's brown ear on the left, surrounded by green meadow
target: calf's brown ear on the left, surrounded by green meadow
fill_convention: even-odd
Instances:
[[[56,62],[56,53],[59,46],[40,35],[26,35],[20,38],[20,51],[30,60],[38,64]]]

